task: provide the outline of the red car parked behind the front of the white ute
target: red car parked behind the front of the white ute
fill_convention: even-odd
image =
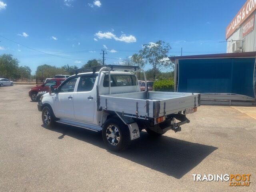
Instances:
[[[60,84],[62,84],[62,82],[64,82],[64,80],[66,80],[66,78],[52,78],[42,85],[32,87],[29,90],[28,95],[30,96],[32,101],[38,101],[38,92],[48,92],[50,85],[54,86],[54,88],[57,88]]]

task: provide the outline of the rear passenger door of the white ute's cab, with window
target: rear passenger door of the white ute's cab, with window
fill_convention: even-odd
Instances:
[[[97,74],[80,76],[77,91],[74,92],[73,106],[76,120],[84,122],[94,121],[94,108],[96,106]]]

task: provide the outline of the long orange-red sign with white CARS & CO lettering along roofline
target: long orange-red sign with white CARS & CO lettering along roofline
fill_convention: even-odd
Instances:
[[[256,0],[247,0],[226,28],[226,39],[256,10]]]

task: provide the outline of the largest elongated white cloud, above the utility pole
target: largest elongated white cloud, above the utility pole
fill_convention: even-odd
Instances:
[[[122,41],[122,42],[126,42],[126,43],[132,43],[132,42],[136,42],[136,38],[133,35],[129,35],[126,36],[126,34],[122,34],[120,37],[117,37],[115,34],[113,34],[112,32],[104,32],[102,33],[101,31],[99,31],[98,33],[94,34],[96,37],[98,37],[99,39],[114,39],[116,41]]]

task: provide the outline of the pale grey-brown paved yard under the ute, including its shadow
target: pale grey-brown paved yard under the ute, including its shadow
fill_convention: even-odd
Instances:
[[[30,86],[0,88],[0,191],[256,191],[255,108],[200,106],[182,131],[146,132],[121,153],[81,128],[42,126]],[[251,174],[249,187],[192,174]]]

